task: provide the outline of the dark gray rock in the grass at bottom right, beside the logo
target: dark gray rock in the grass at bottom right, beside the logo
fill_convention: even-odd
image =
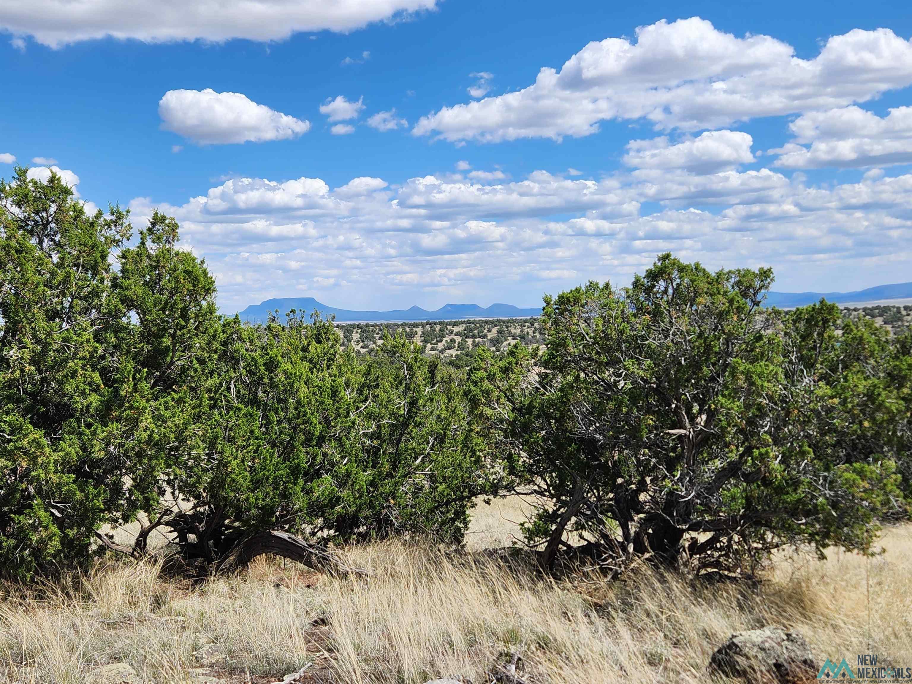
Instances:
[[[798,684],[814,681],[817,666],[799,632],[763,627],[737,632],[712,654],[710,669],[750,684]]]

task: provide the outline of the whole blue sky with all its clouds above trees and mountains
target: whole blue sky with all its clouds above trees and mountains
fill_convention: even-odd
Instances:
[[[135,6],[0,5],[0,176],[173,213],[225,311],[534,306],[666,250],[912,280],[901,3]]]

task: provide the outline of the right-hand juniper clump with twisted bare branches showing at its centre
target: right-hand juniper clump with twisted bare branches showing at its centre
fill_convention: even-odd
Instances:
[[[543,502],[526,534],[545,565],[751,571],[782,544],[867,551],[905,513],[907,338],[837,337],[825,303],[764,309],[771,284],[664,254],[627,288],[546,297],[544,354],[481,359],[479,413]]]

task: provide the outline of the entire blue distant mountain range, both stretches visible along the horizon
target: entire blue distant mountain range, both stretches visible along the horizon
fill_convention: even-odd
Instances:
[[[819,302],[821,298],[834,304],[849,302],[875,302],[881,299],[912,298],[912,283],[896,283],[894,285],[876,285],[856,292],[771,292],[766,296],[764,306],[779,306],[780,308],[793,308],[807,306]],[[492,304],[491,306],[478,306],[477,304],[445,304],[439,309],[428,311],[420,306],[408,309],[393,309],[391,311],[356,311],[352,309],[339,309],[335,306],[326,306],[314,297],[283,297],[267,299],[260,304],[247,306],[244,311],[238,312],[241,320],[249,323],[265,323],[269,314],[278,310],[279,316],[292,309],[306,312],[310,315],[319,311],[325,316],[336,316],[339,323],[409,323],[418,321],[458,321],[466,318],[528,318],[541,316],[542,308],[520,308],[512,304]]]

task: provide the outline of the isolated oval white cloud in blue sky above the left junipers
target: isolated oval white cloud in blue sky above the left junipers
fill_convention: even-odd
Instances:
[[[161,128],[200,145],[288,140],[310,122],[257,104],[242,93],[169,90],[159,101]]]

